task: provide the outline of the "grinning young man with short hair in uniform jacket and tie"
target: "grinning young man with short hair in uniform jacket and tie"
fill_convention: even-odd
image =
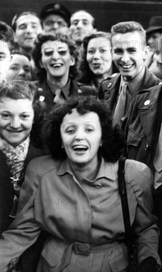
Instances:
[[[145,30],[139,23],[118,23],[111,33],[113,60],[120,73],[102,81],[98,96],[107,100],[114,124],[122,127],[131,100],[139,91],[158,85],[160,80],[144,65],[148,47]]]

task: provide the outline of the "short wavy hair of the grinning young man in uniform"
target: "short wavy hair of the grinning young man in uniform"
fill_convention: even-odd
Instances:
[[[141,40],[146,42],[146,31],[142,27],[140,23],[137,23],[135,21],[128,21],[128,22],[121,22],[118,23],[111,28],[111,34],[112,37],[117,34],[125,34],[128,32],[135,32],[137,31],[139,35],[141,36]]]

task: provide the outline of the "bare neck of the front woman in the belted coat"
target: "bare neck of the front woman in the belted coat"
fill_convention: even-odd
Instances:
[[[100,164],[101,161],[99,159],[89,164],[76,164],[70,162],[74,176],[79,182],[81,182],[82,179],[88,179],[90,181],[93,181],[97,176]]]

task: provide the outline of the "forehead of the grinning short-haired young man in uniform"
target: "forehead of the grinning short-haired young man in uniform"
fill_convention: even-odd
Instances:
[[[112,37],[113,46],[117,47],[136,47],[142,42],[142,37],[139,32],[118,33]]]

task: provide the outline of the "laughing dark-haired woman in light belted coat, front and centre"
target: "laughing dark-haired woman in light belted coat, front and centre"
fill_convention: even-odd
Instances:
[[[126,272],[118,190],[123,140],[110,116],[105,102],[90,97],[70,99],[49,114],[45,137],[51,155],[28,167],[19,214],[1,236],[1,271],[12,267],[44,229],[49,237],[37,272]],[[126,165],[139,271],[156,272],[161,265],[151,214],[152,174],[144,164],[127,160]]]

